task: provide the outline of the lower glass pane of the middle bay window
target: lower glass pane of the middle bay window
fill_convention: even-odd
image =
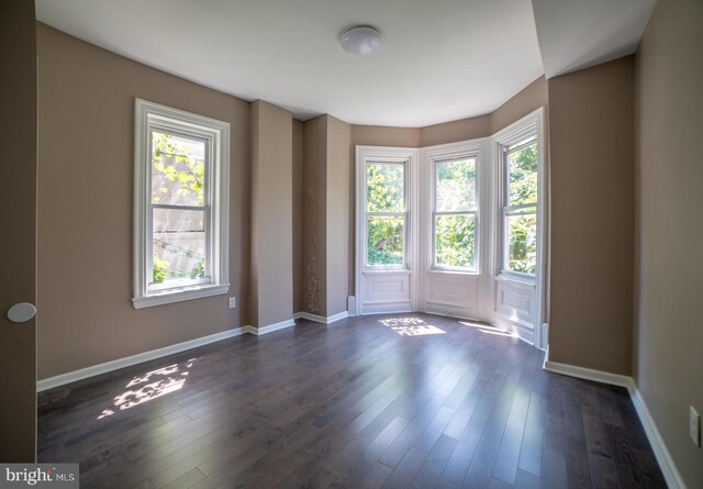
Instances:
[[[435,216],[435,265],[476,268],[476,216]]]

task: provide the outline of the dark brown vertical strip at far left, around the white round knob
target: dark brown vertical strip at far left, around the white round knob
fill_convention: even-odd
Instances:
[[[7,311],[36,303],[36,35],[34,1],[0,2],[0,462],[34,462],[36,321]],[[42,319],[40,310],[38,318]]]

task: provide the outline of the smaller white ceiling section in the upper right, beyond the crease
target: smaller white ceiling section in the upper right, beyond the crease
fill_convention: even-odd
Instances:
[[[533,0],[547,78],[633,54],[655,3],[657,0]]]

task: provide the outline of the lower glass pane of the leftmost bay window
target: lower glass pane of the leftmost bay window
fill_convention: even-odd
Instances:
[[[368,216],[368,265],[402,265],[405,218]]]

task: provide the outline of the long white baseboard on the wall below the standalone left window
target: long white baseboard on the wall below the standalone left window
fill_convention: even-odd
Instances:
[[[43,390],[53,389],[55,387],[59,387],[66,384],[87,379],[89,377],[94,377],[97,375],[107,374],[109,371],[118,370],[120,368],[130,367],[132,365],[137,365],[144,362],[154,360],[156,358],[161,358],[168,355],[172,355],[175,353],[180,353],[187,349],[197,348],[198,346],[203,346],[203,345],[220,342],[222,340],[226,340],[230,337],[239,336],[241,334],[249,332],[246,330],[247,327],[250,327],[250,326],[235,327],[233,330],[223,331],[222,333],[211,334],[209,336],[190,340],[183,343],[177,343],[175,345],[165,346],[163,348],[156,348],[149,352],[138,353],[136,355],[119,358],[116,360],[105,362],[104,364],[98,364],[91,367],[86,367],[86,368],[69,371],[66,374],[60,374],[54,377],[48,377],[46,379],[42,379],[36,382],[36,391],[41,392]]]

